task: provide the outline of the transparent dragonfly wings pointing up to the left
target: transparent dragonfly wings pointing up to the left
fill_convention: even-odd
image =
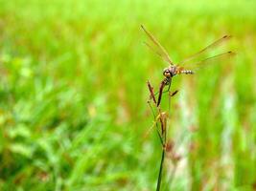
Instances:
[[[162,47],[162,45],[153,37],[153,35],[151,34],[151,32],[148,32],[146,30],[146,28],[141,25],[141,28],[144,32],[146,32],[146,34],[148,35],[148,37],[151,39],[152,45],[151,46],[149,43],[145,44],[151,49],[151,51],[157,53],[162,59],[164,59],[165,61],[167,61],[169,64],[173,65],[173,61],[171,60],[169,54],[167,53],[167,51]]]

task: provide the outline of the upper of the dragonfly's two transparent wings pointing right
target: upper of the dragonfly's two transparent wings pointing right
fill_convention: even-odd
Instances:
[[[190,55],[189,57],[185,58],[183,61],[181,61],[179,64],[184,64],[186,62],[189,62],[193,59],[195,59],[196,57],[198,57],[198,55],[200,55],[201,53],[206,53],[207,51],[216,48],[218,46],[220,46],[221,44],[223,44],[224,42],[228,41],[232,36],[231,35],[224,35],[222,36],[220,39],[216,40],[215,42],[213,42],[212,44],[208,45],[207,47],[205,47],[204,49],[200,50],[198,53],[194,53],[192,55]]]

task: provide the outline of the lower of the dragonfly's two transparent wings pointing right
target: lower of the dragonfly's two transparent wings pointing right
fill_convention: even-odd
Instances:
[[[207,57],[205,59],[199,60],[198,62],[191,62],[191,64],[187,67],[183,67],[182,65],[178,64],[178,68],[179,70],[195,70],[197,68],[203,67],[203,66],[207,66],[208,64],[211,63],[218,63],[221,62],[223,60],[225,60],[228,57],[232,57],[234,56],[236,53],[233,53],[231,51],[226,52],[226,53],[219,53],[217,55],[214,55],[212,57]]]

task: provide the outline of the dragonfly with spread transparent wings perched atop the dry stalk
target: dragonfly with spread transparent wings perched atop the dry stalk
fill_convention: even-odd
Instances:
[[[204,66],[207,63],[217,62],[220,59],[233,56],[235,53],[228,51],[225,53],[219,53],[210,57],[203,58],[199,61],[195,61],[201,54],[208,53],[208,51],[213,50],[214,48],[220,46],[224,42],[228,41],[231,38],[231,35],[224,35],[220,39],[214,41],[210,45],[201,49],[198,53],[194,53],[187,58],[183,59],[181,62],[174,63],[174,61],[169,56],[169,53],[165,50],[165,48],[156,40],[156,38],[151,34],[151,32],[147,31],[146,28],[141,25],[142,30],[147,34],[150,39],[150,43],[144,42],[146,46],[151,49],[154,53],[159,55],[164,61],[169,63],[169,66],[163,70],[163,75],[165,78],[161,82],[161,86],[159,89],[159,96],[157,100],[157,106],[160,104],[162,92],[165,86],[169,85],[168,91],[170,90],[172,78],[178,74],[195,74],[195,70],[198,70],[200,66]],[[190,67],[186,67],[187,64],[190,64]],[[194,70],[191,70],[191,69]]]

